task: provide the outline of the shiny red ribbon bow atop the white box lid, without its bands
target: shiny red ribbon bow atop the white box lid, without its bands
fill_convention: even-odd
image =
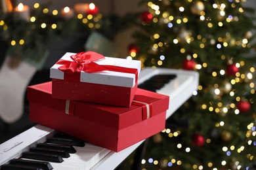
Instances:
[[[107,70],[104,66],[98,65],[97,63],[93,62],[99,59],[104,59],[104,56],[96,52],[80,52],[78,54],[70,56],[70,58],[73,61],[60,59],[56,62],[56,64],[62,64],[62,66],[58,67],[58,69],[60,71],[63,71],[64,73],[68,73],[69,75],[73,75],[75,71],[95,73],[98,71]]]

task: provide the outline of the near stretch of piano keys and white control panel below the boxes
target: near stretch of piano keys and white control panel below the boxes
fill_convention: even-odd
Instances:
[[[26,140],[28,137],[30,140]],[[14,169],[17,166],[18,169],[24,166],[26,169],[30,166],[41,169],[91,169],[110,152],[74,137],[60,135],[41,125],[34,126],[7,142],[0,145],[1,169]],[[9,164],[4,164],[9,160]],[[24,162],[25,160],[32,162]],[[35,160],[39,163],[34,162]]]

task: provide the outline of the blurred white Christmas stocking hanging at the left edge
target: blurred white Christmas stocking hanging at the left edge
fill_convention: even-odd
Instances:
[[[0,69],[0,118],[7,123],[18,120],[24,109],[26,88],[37,71],[25,61],[7,56]]]

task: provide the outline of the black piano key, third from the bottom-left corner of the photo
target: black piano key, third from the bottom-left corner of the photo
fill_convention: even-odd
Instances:
[[[37,152],[23,152],[22,158],[28,158],[32,160],[42,160],[42,161],[54,161],[54,162],[63,161],[61,156],[54,155],[54,154],[37,153]]]

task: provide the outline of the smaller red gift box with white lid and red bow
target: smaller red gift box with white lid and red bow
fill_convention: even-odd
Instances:
[[[67,52],[51,67],[53,97],[130,107],[140,61]]]

